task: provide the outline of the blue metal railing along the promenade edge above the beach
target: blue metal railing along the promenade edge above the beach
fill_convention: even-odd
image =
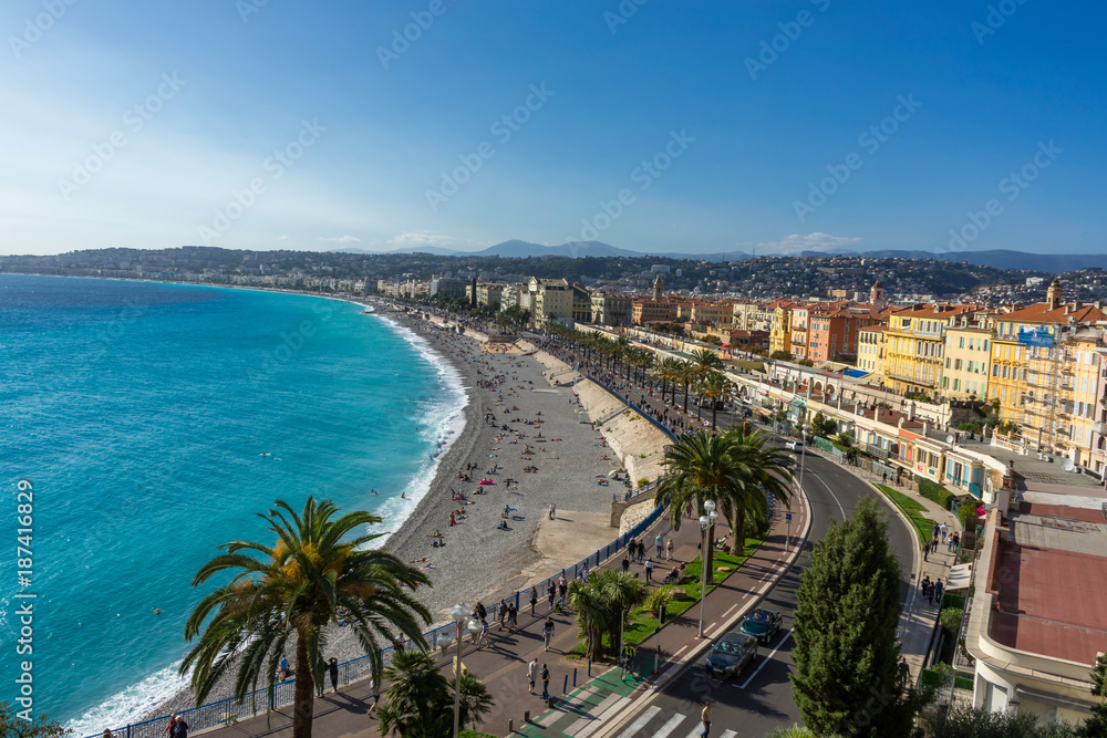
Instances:
[[[610,392],[615,397],[619,397],[622,402],[627,399],[620,395],[618,392],[612,389],[610,386],[589,377],[604,389]],[[639,412],[643,417],[649,419],[651,423],[656,425],[661,430],[665,433],[666,436],[676,440],[675,434],[666,428],[664,425],[654,420],[648,413],[642,412],[633,403],[629,403],[630,407]],[[652,489],[652,485],[650,488]],[[602,549],[598,549],[596,553],[586,557],[581,561],[578,561],[570,568],[562,569],[560,572],[552,576],[548,576],[540,584],[537,584],[538,591],[545,593],[549,588],[550,582],[557,582],[558,578],[562,574],[566,579],[576,579],[582,576],[586,571],[591,571],[596,567],[600,565],[611,557],[618,554],[631,539],[638,539],[642,533],[644,533],[649,528],[658,521],[661,514],[665,511],[666,506],[662,505],[653,509],[649,516],[646,516],[641,522],[634,526],[630,531],[618,537],[610,543],[608,543]],[[515,601],[515,606],[523,611],[523,604],[525,602],[529,603],[530,588],[517,591],[514,595],[508,595],[504,597],[505,602],[510,602],[513,599]],[[541,595],[539,595],[541,596]],[[499,604],[496,603],[492,607],[488,607],[488,615],[493,621],[499,620]],[[423,634],[426,640],[430,649],[436,651],[438,648],[439,638],[443,633],[448,632],[451,640],[456,632],[456,625],[454,623],[446,623],[445,625],[439,625],[431,631]],[[392,656],[395,653],[394,646],[387,646],[381,649],[381,657],[385,665],[392,663]],[[369,656],[361,656],[359,658],[353,658],[351,661],[339,664],[339,684],[348,684],[356,679],[368,677],[372,674],[372,659]],[[283,707],[286,705],[291,705],[293,701],[293,689],[296,679],[288,679],[287,682],[281,682],[273,688],[272,699],[268,695],[266,688],[256,689],[242,699],[236,699],[229,697],[227,699],[221,699],[214,703],[207,703],[198,707],[194,707],[187,710],[180,710],[180,715],[185,723],[188,724],[188,729],[190,731],[206,730],[208,728],[216,728],[219,726],[230,725],[238,720],[255,717],[259,713],[265,713],[267,709],[275,709],[277,707]],[[168,715],[163,715],[161,717],[152,718],[149,720],[144,720],[142,723],[135,723],[133,725],[126,725],[121,728],[113,728],[112,735],[116,738],[164,738],[163,734],[166,726],[169,724]],[[101,738],[102,731],[94,735],[87,736],[86,738]]]

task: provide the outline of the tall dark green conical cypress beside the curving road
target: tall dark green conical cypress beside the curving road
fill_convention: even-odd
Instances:
[[[861,500],[830,522],[800,581],[793,698],[816,735],[911,736],[929,701],[900,684],[900,567],[887,533],[876,500]]]

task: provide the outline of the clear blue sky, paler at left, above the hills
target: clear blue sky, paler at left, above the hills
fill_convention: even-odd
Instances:
[[[0,253],[1107,250],[1101,3],[639,2],[7,2]]]

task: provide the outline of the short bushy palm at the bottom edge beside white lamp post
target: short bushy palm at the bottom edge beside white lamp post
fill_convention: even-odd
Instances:
[[[423,651],[405,651],[395,655],[384,669],[389,680],[384,707],[377,717],[381,732],[395,732],[404,738],[449,735],[454,719],[454,686],[438,671],[434,656]],[[458,723],[476,723],[493,706],[488,688],[472,674],[462,674]]]

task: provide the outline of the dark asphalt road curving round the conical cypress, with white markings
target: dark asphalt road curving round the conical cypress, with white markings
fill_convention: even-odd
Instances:
[[[799,723],[799,710],[792,699],[788,674],[794,671],[790,637],[796,589],[809,564],[814,542],[826,533],[829,520],[840,521],[853,513],[858,500],[871,493],[857,477],[835,462],[815,454],[806,457],[804,489],[811,503],[813,528],[804,553],[777,585],[768,592],[764,606],[784,614],[780,635],[768,646],[761,646],[758,658],[745,673],[728,682],[707,678],[703,658],[689,665],[665,688],[640,701],[635,715],[604,736],[615,738],[696,738],[702,730],[700,710],[703,700],[713,703],[712,736],[733,738],[763,736],[774,728]],[[888,536],[903,570],[903,602],[913,596],[914,541],[907,524],[881,497],[888,513]],[[732,732],[734,731],[734,732]]]

